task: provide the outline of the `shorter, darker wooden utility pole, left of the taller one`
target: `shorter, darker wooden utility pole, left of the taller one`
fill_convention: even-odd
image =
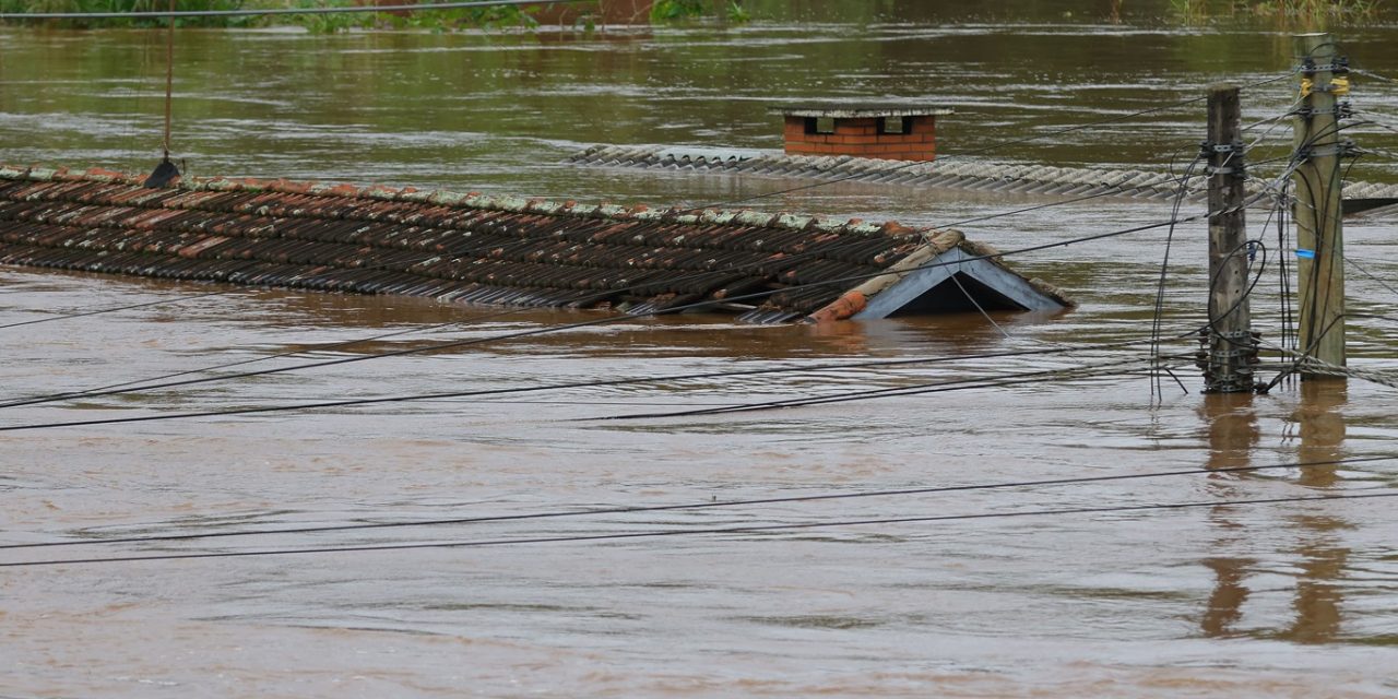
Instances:
[[[1209,87],[1209,327],[1205,333],[1204,390],[1251,391],[1257,338],[1248,310],[1250,287],[1243,152],[1243,109],[1236,85]]]

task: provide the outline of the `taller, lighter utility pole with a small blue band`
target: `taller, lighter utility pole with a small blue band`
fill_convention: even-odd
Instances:
[[[1349,94],[1348,70],[1335,63],[1328,34],[1296,36],[1302,57],[1302,106],[1295,119],[1303,162],[1296,183],[1296,275],[1300,351],[1345,365],[1345,245],[1341,228],[1338,99]],[[1302,379],[1335,379],[1302,373]],[[1339,377],[1339,380],[1343,380]]]

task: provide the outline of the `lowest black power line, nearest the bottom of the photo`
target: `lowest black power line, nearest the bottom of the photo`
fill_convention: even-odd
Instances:
[[[1264,498],[1251,500],[1121,505],[1114,507],[1064,507],[1053,510],[986,512],[977,514],[884,517],[884,519],[865,519],[865,520],[808,521],[800,524],[752,524],[740,527],[671,528],[671,530],[633,531],[633,533],[619,533],[619,534],[495,538],[495,540],[440,541],[440,542],[415,542],[415,544],[370,544],[358,547],[221,551],[221,552],[204,552],[204,554],[152,554],[152,555],[109,556],[109,558],[71,558],[59,561],[18,561],[18,562],[0,563],[0,568],[41,568],[41,566],[87,565],[87,563],[129,563],[129,562],[143,562],[143,561],[189,561],[200,558],[285,556],[285,555],[308,555],[308,554],[361,554],[361,552],[376,552],[376,551],[412,551],[412,549],[428,549],[428,548],[485,548],[485,547],[521,545],[521,544],[573,544],[573,542],[596,542],[596,541],[625,541],[637,538],[685,537],[685,535],[700,535],[700,534],[761,534],[769,531],[801,531],[814,528],[861,527],[861,526],[875,526],[875,524],[916,524],[916,523],[930,523],[930,521],[966,521],[966,520],[988,520],[988,519],[1011,519],[1011,517],[1046,517],[1046,516],[1062,516],[1062,514],[1110,514],[1110,513],[1151,512],[1151,510],[1183,510],[1195,507],[1234,507],[1240,505],[1285,505],[1285,503],[1303,503],[1303,502],[1357,500],[1357,499],[1373,499],[1373,498],[1398,498],[1398,492],[1377,492],[1377,493],[1357,493],[1357,495],[1313,495],[1313,496],[1299,496],[1299,498]]]

